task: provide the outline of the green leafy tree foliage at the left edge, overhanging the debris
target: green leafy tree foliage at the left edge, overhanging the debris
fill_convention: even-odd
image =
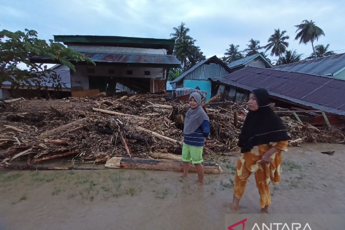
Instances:
[[[41,88],[52,84],[56,89],[61,88],[63,83],[60,76],[46,65],[31,62],[32,56],[48,57],[73,71],[76,69],[71,61],[95,64],[83,54],[66,48],[61,43],[49,40],[48,44],[46,40],[38,39],[34,30],[25,29],[25,32],[2,30],[0,31],[0,86],[3,82],[9,81],[11,87],[26,85]],[[26,64],[28,69],[19,69],[20,63]]]

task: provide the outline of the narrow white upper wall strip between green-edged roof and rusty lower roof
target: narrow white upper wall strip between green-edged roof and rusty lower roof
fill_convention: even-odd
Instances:
[[[115,46],[88,46],[70,44],[68,48],[76,51],[106,51],[106,52],[127,52],[127,53],[150,53],[150,54],[167,54],[166,49],[143,49],[133,47],[115,47]]]

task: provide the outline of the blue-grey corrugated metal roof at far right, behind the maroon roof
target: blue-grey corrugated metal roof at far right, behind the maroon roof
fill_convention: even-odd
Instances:
[[[345,53],[273,67],[277,70],[331,76],[345,68]]]

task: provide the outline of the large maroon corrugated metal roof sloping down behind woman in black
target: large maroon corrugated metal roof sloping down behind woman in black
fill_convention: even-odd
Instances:
[[[246,90],[265,88],[270,95],[345,116],[345,80],[250,66],[211,80]]]

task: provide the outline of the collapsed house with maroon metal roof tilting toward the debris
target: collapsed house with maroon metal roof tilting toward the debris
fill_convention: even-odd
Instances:
[[[326,117],[323,114],[326,120],[323,123],[328,122],[326,118],[333,123],[345,121],[345,102],[342,100],[345,80],[250,66],[224,78],[210,80],[219,84],[218,93],[223,100],[243,101],[248,98],[251,90],[265,88],[276,106],[333,115]]]

